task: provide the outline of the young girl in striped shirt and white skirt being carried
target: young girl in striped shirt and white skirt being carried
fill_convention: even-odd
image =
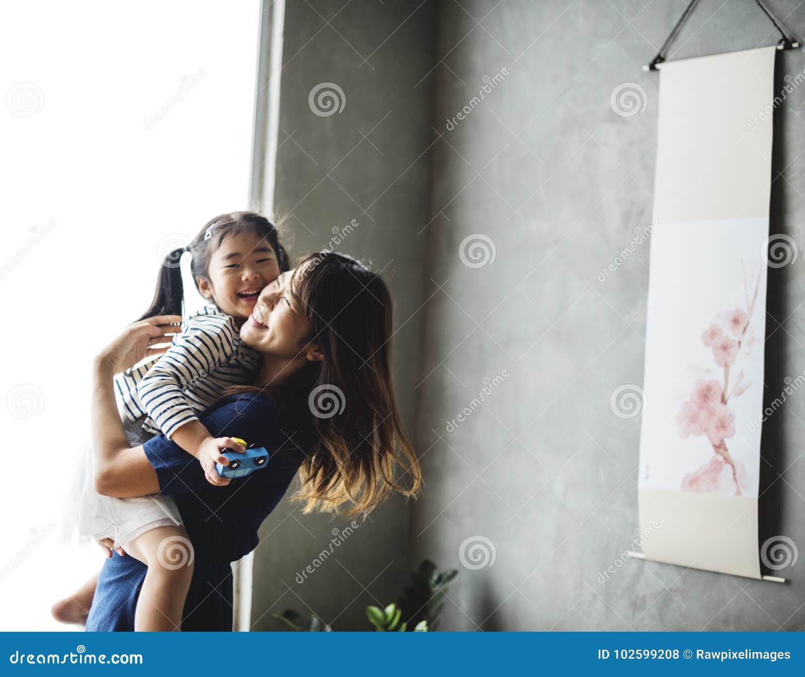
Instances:
[[[209,221],[188,247],[167,255],[154,301],[141,320],[180,313],[179,259],[184,251],[192,254],[196,288],[213,304],[184,321],[169,349],[151,350],[158,360],[118,374],[115,389],[132,444],[163,432],[208,468],[209,482],[226,485],[229,480],[218,475],[214,463],[229,464],[221,449],[244,448],[229,437],[213,438],[198,417],[225,388],[251,382],[262,365],[260,354],[242,342],[240,328],[263,287],[288,270],[288,259],[274,225],[264,217],[250,212],[223,214]],[[160,335],[168,331],[160,330]],[[170,340],[161,336],[152,341]],[[80,537],[96,539],[109,557],[114,548],[147,564],[135,630],[179,630],[193,552],[175,502],[159,495],[101,496],[95,489],[103,477],[92,472],[92,465],[88,455],[78,498]],[[85,621],[96,582],[93,576],[72,597],[57,602],[52,609],[56,620]]]

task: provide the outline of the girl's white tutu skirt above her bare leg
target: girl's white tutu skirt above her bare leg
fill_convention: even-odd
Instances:
[[[132,446],[139,446],[151,437],[150,433],[142,431],[142,419],[134,423],[124,420],[123,427]],[[93,455],[89,448],[78,464],[65,513],[66,539],[72,539],[72,534],[77,531],[79,542],[113,539],[115,547],[123,548],[157,526],[182,523],[179,509],[171,497],[113,498],[97,493],[93,482]]]

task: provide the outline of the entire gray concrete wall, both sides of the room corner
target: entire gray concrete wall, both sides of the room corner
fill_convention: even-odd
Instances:
[[[390,502],[303,584],[295,573],[348,522],[283,504],[256,554],[254,629],[276,629],[270,614],[289,606],[363,628],[363,605],[390,601],[425,556],[460,569],[444,630],[805,628],[798,568],[778,585],[630,560],[597,580],[637,527],[640,423],[613,415],[609,398],[642,383],[648,245],[604,283],[597,275],[650,222],[658,78],[641,66],[683,3],[312,5],[287,8],[275,202],[299,251],[356,218],[339,248],[380,268],[393,259],[398,394],[427,488],[411,524],[409,506]],[[805,33],[797,2],[770,6]],[[771,44],[770,28],[752,2],[700,0],[670,56]],[[776,89],[803,67],[803,52],[779,55]],[[308,93],[325,81],[346,104],[320,118]],[[628,82],[645,89],[646,109],[623,118],[609,99]],[[798,89],[775,113],[771,230],[800,242],[803,120]],[[495,258],[473,268],[460,245],[478,233]],[[805,368],[802,265],[770,270],[770,400]],[[485,386],[483,405],[448,432]],[[803,419],[796,393],[766,424],[760,506],[762,539],[800,547]],[[491,566],[474,568],[491,552],[477,537],[494,547]]]

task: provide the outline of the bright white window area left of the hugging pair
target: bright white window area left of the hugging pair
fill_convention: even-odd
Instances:
[[[17,2],[0,10],[0,630],[103,563],[61,543],[89,440],[93,355],[161,259],[248,208],[260,2]]]

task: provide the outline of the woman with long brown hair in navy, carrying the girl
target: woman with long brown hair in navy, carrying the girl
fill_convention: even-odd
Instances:
[[[258,545],[258,528],[299,471],[295,500],[313,510],[367,514],[393,491],[415,496],[419,464],[394,401],[391,299],[385,283],[341,254],[312,254],[263,289],[242,328],[263,356],[253,386],[231,389],[201,419],[214,436],[265,447],[270,460],[225,481],[165,436],[131,448],[115,407],[112,377],[147,354],[167,318],[133,324],[93,365],[97,490],[107,496],[174,497],[190,543],[166,544],[164,563],[194,559],[182,630],[231,630],[230,563]],[[159,352],[159,351],[156,351]],[[234,444],[234,443],[232,443]],[[96,456],[97,458],[98,456]],[[395,465],[409,476],[399,483]],[[215,481],[213,486],[208,478]],[[184,562],[183,562],[184,560]],[[87,630],[132,630],[145,565],[107,559]]]

